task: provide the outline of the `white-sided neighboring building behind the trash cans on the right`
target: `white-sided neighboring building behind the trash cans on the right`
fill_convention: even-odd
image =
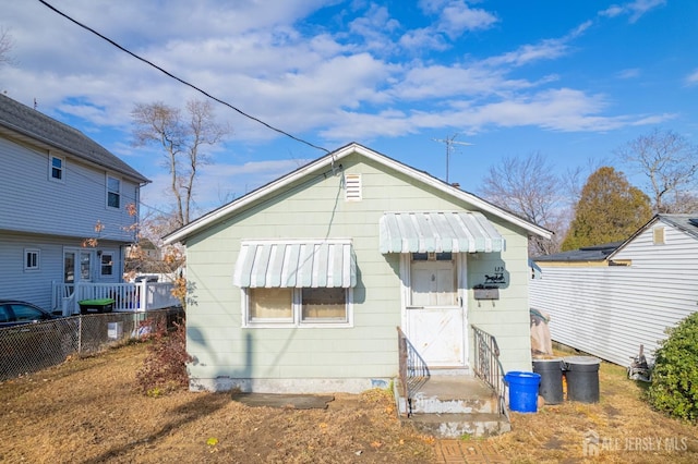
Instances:
[[[658,215],[622,243],[533,258],[531,308],[554,341],[627,366],[698,306],[698,215]]]

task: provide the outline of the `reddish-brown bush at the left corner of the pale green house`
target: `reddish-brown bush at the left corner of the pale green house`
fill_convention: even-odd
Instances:
[[[136,373],[139,387],[148,396],[157,398],[189,384],[186,363],[192,357],[186,353],[186,330],[184,323],[174,326],[173,331],[160,329],[151,334],[148,354]]]

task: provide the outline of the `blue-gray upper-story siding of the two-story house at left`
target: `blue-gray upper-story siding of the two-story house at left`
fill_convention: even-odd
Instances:
[[[0,138],[0,230],[86,239],[99,221],[101,240],[133,240],[127,227],[136,218],[124,207],[137,200],[136,184],[122,179],[121,208],[107,208],[104,170],[67,158],[63,182],[55,182],[48,163],[48,151]]]

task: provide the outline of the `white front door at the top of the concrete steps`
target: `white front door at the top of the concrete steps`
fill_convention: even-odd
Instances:
[[[404,255],[406,333],[430,367],[467,364],[466,313],[458,255]]]

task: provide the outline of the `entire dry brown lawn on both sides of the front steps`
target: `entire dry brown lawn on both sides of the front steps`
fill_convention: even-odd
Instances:
[[[249,407],[229,394],[142,395],[146,345],[110,350],[0,383],[0,462],[426,463],[435,441],[402,427],[386,392],[338,394],[327,410]],[[698,429],[652,412],[642,386],[602,364],[601,401],[513,413],[481,443],[512,462],[698,462]],[[476,444],[462,438],[461,445]]]

